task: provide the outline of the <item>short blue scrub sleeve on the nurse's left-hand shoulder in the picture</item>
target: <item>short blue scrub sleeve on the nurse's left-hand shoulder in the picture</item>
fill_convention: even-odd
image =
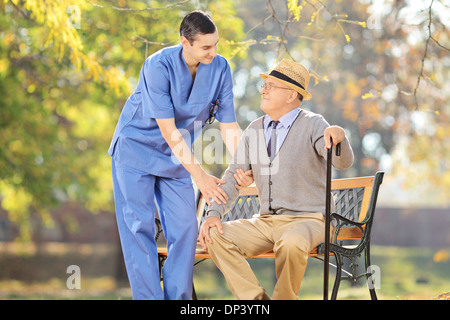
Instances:
[[[144,117],[174,118],[167,67],[155,57],[147,59],[139,77]]]

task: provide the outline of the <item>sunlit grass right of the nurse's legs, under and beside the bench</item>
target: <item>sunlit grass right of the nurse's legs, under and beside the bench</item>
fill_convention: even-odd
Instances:
[[[439,249],[403,248],[373,246],[371,260],[379,266],[381,273],[379,299],[385,300],[427,300],[450,291],[450,260],[434,261]],[[448,249],[444,251],[449,251]],[[334,263],[334,258],[330,259]],[[359,261],[361,266],[362,261]],[[274,261],[253,259],[260,284],[271,295],[275,286]],[[361,268],[359,268],[361,269]],[[362,272],[359,270],[360,273]],[[334,268],[330,267],[330,293],[334,283]],[[199,299],[233,299],[225,280],[212,261],[205,261],[196,267],[194,282]],[[309,259],[308,268],[299,292],[299,299],[320,300],[323,298],[323,262]],[[370,299],[365,279],[356,283],[342,281],[338,299]]]

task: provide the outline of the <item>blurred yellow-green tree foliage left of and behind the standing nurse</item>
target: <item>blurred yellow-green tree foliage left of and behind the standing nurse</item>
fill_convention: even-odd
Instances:
[[[178,43],[181,19],[196,7],[190,1],[0,3],[0,194],[29,240],[33,219],[51,226],[49,209],[60,203],[113,211],[106,152],[120,111],[145,58]],[[242,39],[231,1],[208,10],[222,37]]]

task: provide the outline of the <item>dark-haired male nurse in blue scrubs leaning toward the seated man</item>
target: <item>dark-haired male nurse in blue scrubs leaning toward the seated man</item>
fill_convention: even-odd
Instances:
[[[241,136],[230,66],[216,53],[214,22],[204,12],[189,13],[181,22],[180,40],[145,60],[108,151],[133,299],[190,299],[198,232],[191,175],[209,202],[227,199],[220,187],[225,182],[201,168],[192,143],[214,119],[232,155]],[[241,178],[247,179],[243,186],[252,182],[248,172]],[[164,290],[154,239],[155,205],[168,248]]]

